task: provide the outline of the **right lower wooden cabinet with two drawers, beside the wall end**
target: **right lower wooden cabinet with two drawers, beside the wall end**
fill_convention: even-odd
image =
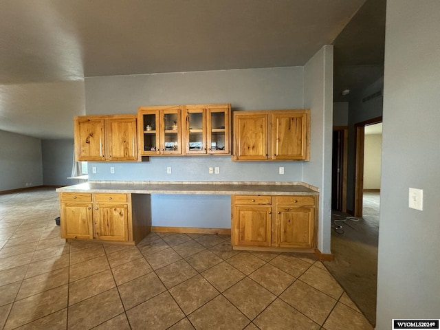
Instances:
[[[316,196],[232,196],[234,249],[314,250]]]

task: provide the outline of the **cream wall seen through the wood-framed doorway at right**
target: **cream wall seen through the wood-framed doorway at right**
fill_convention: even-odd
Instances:
[[[364,140],[364,189],[380,189],[382,134],[366,134]]]

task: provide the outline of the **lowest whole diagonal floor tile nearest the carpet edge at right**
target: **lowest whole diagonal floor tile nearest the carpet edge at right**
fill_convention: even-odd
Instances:
[[[318,325],[329,316],[336,300],[298,280],[280,296],[286,303],[303,313]]]

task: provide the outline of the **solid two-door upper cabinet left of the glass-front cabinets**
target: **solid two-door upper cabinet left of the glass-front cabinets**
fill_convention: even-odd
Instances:
[[[137,161],[136,115],[80,115],[74,118],[76,160]]]

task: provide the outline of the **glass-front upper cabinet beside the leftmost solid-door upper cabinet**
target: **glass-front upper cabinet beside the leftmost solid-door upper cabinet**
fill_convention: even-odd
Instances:
[[[139,107],[140,155],[181,155],[181,106]]]

